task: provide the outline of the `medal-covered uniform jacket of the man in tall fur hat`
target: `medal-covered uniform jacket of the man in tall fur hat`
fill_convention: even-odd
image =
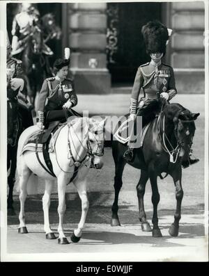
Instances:
[[[138,101],[141,88],[148,99],[156,99],[157,93],[162,92],[169,93],[171,99],[177,93],[173,68],[161,62],[156,64],[153,60],[141,65],[135,76],[132,99]]]

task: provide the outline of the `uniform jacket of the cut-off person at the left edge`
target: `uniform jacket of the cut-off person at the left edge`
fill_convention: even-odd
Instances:
[[[12,90],[10,86],[10,80],[13,78],[23,79],[24,80],[24,88],[22,90],[23,93],[26,91],[26,79],[24,76],[24,71],[21,66],[22,61],[17,58],[9,58],[6,62],[6,76],[7,76],[7,97],[8,99],[15,99],[19,92],[19,88],[17,90]]]

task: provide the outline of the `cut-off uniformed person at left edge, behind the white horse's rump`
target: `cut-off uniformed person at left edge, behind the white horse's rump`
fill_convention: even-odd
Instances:
[[[7,107],[8,107],[8,143],[13,145],[15,140],[15,120],[17,119],[17,112],[22,117],[22,125],[24,129],[33,125],[33,118],[31,115],[31,105],[26,99],[26,79],[21,67],[21,60],[12,58],[10,56],[11,47],[7,35],[7,60],[6,60],[6,74],[7,74]]]

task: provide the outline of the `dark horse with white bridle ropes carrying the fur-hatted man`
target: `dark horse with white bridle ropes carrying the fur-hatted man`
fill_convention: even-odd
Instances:
[[[153,231],[154,237],[162,236],[157,218],[157,204],[160,202],[157,177],[162,177],[162,172],[170,174],[176,186],[176,213],[174,222],[169,228],[169,234],[178,236],[181,202],[183,200],[181,162],[189,158],[189,150],[195,131],[194,120],[198,116],[199,113],[191,113],[180,104],[166,104],[160,115],[151,122],[143,146],[134,149],[134,160],[130,165],[141,170],[141,177],[137,184],[139,221],[142,230]],[[127,145],[123,145],[117,140],[113,141],[115,198],[111,208],[111,226],[121,225],[118,219],[118,195],[123,185],[122,175],[126,164],[123,154],[126,149]],[[144,193],[148,179],[150,179],[153,194],[153,230],[146,220],[144,211]]]

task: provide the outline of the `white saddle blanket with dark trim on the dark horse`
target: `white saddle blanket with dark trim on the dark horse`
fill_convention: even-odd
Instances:
[[[132,129],[134,124],[134,121],[130,119],[130,117],[125,120],[120,127],[116,130],[114,133],[114,138],[118,140],[118,142],[125,144],[130,139],[130,129]],[[146,135],[146,131],[148,130],[148,127],[150,126],[150,122],[141,130],[141,133],[139,135],[141,136],[141,146],[144,142],[144,137]]]

